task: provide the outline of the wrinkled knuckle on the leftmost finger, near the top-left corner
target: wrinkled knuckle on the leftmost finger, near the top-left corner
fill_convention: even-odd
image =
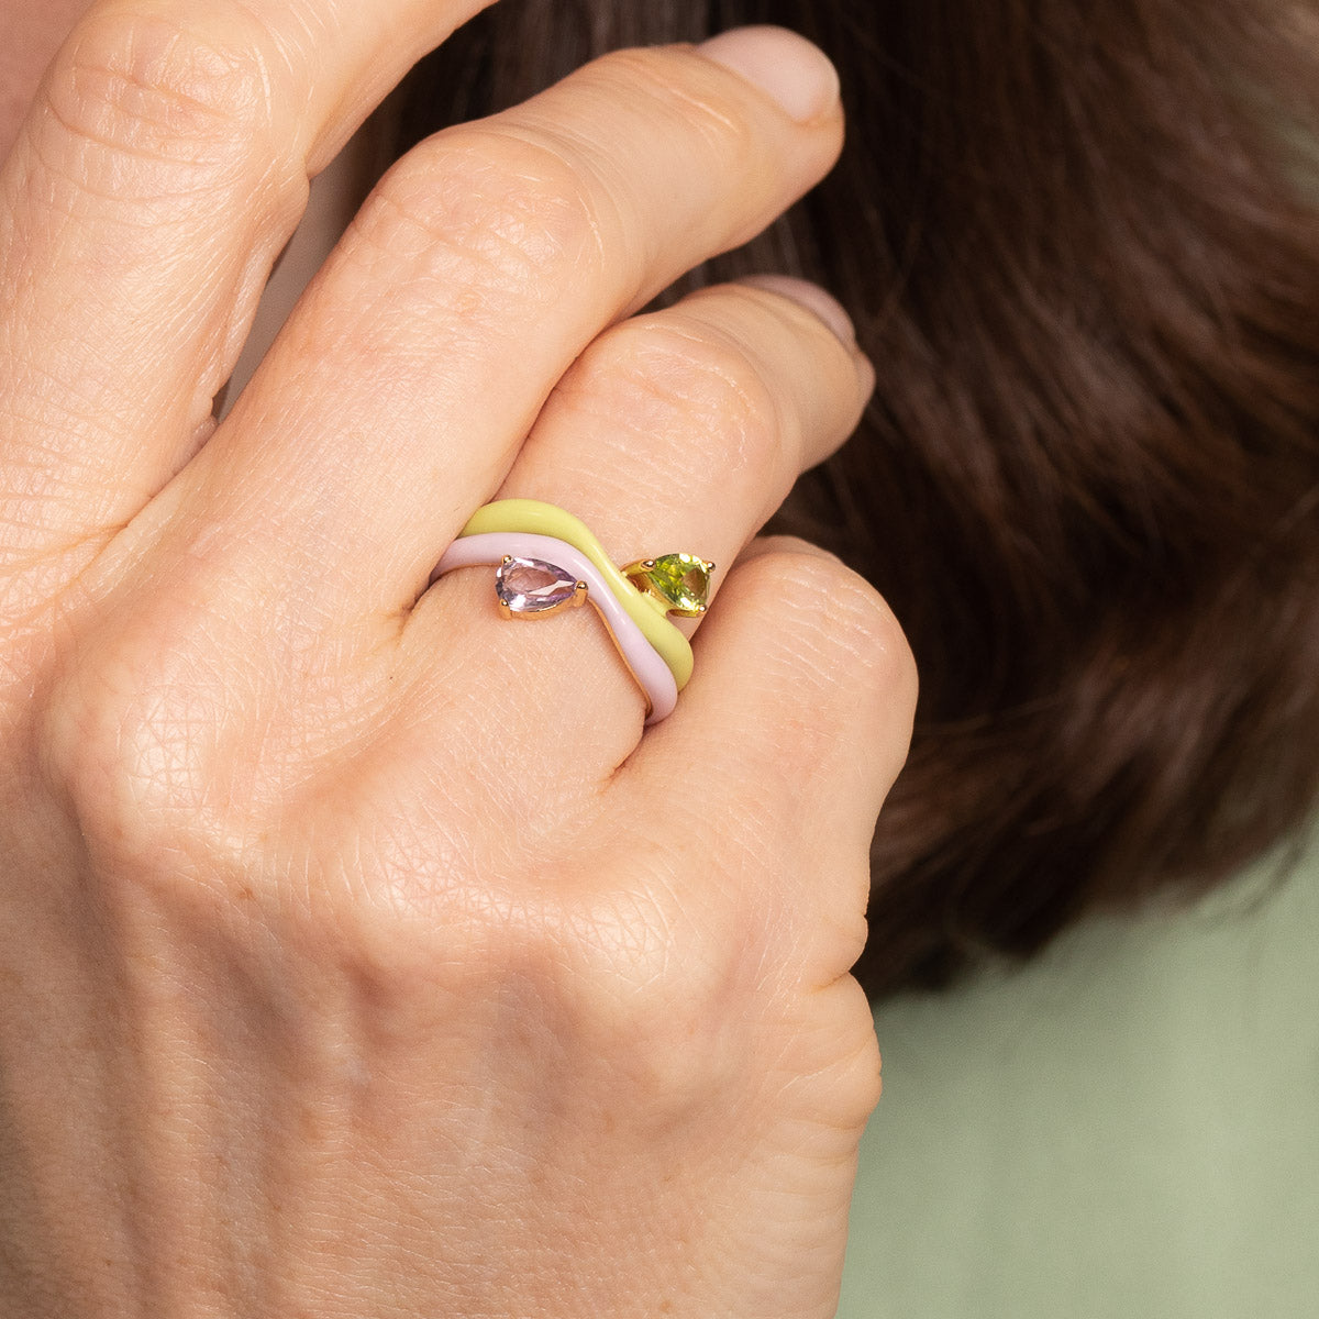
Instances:
[[[152,168],[165,193],[251,179],[272,124],[262,49],[162,13],[94,11],[61,53],[46,106],[74,140]]]

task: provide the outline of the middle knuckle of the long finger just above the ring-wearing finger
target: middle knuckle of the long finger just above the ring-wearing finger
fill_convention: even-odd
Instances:
[[[510,297],[551,303],[601,249],[590,190],[562,153],[472,125],[437,135],[396,165],[361,233],[409,264],[422,297],[500,317]]]

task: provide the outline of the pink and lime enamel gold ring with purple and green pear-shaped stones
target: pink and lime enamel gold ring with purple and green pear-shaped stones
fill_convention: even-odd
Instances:
[[[694,554],[613,565],[586,524],[539,500],[477,509],[435,566],[497,565],[495,592],[508,617],[543,617],[590,600],[646,696],[646,724],[667,718],[691,677],[687,638],[667,620],[706,612],[715,565]]]

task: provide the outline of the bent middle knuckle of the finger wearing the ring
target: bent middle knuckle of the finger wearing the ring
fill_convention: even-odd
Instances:
[[[756,508],[766,495],[783,493],[777,487],[786,481],[790,419],[745,350],[714,327],[677,313],[624,322],[587,350],[561,392],[611,431],[623,425],[649,439],[702,437],[699,445],[663,446],[666,462],[703,464],[685,474],[702,483],[710,480],[708,464],[718,463],[731,500]],[[766,474],[774,477],[770,491]],[[666,471],[665,479],[682,477]]]

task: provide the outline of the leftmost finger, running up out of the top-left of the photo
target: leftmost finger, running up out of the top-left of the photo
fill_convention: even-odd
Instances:
[[[488,0],[103,0],[0,175],[11,559],[136,513],[204,434],[318,171]]]

